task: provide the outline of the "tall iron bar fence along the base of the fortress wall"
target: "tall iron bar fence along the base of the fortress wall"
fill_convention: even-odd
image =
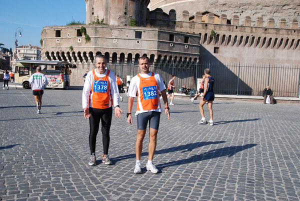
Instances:
[[[139,72],[137,63],[108,64],[108,69],[118,73],[126,82],[126,75],[134,76]],[[216,94],[262,95],[262,90],[270,86],[273,96],[299,97],[300,66],[293,65],[259,65],[221,62],[194,63],[154,63],[150,70],[159,73],[168,83],[171,75],[175,90],[183,85],[197,87],[197,78],[202,78],[204,69],[209,68],[214,77]]]

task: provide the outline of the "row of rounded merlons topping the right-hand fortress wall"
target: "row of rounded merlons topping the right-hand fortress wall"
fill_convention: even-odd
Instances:
[[[266,20],[262,17],[257,17],[252,19],[250,16],[245,16],[244,19],[240,19],[238,14],[234,14],[231,18],[228,18],[226,14],[217,15],[212,12],[195,12],[193,14],[189,13],[187,10],[183,10],[181,15],[181,20],[176,20],[177,18],[176,10],[171,9],[169,13],[165,13],[161,8],[156,8],[153,11],[147,10],[148,19],[162,19],[162,20],[172,20],[172,21],[184,21],[184,22],[199,22],[199,23],[215,23],[224,25],[241,25],[241,26],[256,26],[256,27],[266,27],[266,28],[290,28],[299,29],[298,20],[296,18],[287,22],[284,17],[278,19],[269,17]]]

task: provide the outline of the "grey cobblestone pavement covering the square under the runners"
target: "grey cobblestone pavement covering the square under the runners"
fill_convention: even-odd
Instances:
[[[113,116],[109,155],[88,166],[89,123],[81,90],[46,89],[41,114],[29,89],[1,89],[1,200],[299,200],[300,107],[215,100],[214,125],[197,124],[199,100],[175,98],[161,115],[153,162],[134,174],[136,120]],[[136,108],[134,101],[133,108]],[[209,119],[207,105],[204,111]]]

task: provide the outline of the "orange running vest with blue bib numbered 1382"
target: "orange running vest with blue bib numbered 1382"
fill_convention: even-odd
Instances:
[[[150,77],[144,78],[137,74],[139,77],[139,88],[137,108],[138,111],[151,110],[160,108],[158,85],[154,77],[154,72]]]

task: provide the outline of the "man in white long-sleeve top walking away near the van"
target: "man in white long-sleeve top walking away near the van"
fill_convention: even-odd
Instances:
[[[41,97],[43,94],[43,89],[48,85],[47,77],[40,73],[40,67],[36,67],[36,72],[29,78],[29,83],[31,85],[32,94],[34,95],[35,104],[37,106],[37,113],[40,113],[41,109]]]

